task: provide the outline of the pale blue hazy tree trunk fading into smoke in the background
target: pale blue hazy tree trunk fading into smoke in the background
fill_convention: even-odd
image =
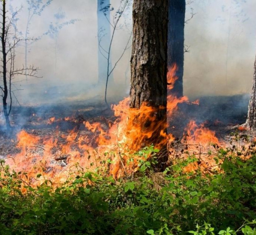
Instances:
[[[112,70],[111,54],[108,50],[111,41],[110,25],[110,0],[97,0],[97,20],[98,20],[98,84],[104,87],[106,79],[113,81],[113,75],[108,75]],[[110,52],[109,52],[110,53]]]

